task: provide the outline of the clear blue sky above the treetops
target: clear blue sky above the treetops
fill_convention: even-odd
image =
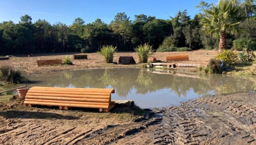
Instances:
[[[201,0],[0,0],[0,22],[12,20],[18,23],[20,16],[28,14],[32,21],[45,19],[50,23],[73,23],[81,17],[85,23],[100,18],[110,23],[117,12],[125,12],[131,20],[134,14],[146,14],[161,19],[175,16],[179,10],[188,10],[193,18],[199,11],[195,5]],[[218,3],[218,0],[205,0]]]

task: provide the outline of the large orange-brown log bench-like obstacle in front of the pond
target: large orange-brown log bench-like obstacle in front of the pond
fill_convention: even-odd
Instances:
[[[33,105],[59,106],[68,110],[70,107],[98,108],[108,112],[115,106],[111,102],[114,89],[32,87],[26,94],[24,106]]]

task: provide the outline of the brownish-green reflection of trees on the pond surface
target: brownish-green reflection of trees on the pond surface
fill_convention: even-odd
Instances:
[[[30,86],[114,88],[120,97],[126,97],[132,90],[136,94],[147,94],[163,89],[175,92],[177,96],[198,96],[227,94],[256,90],[256,83],[246,78],[227,75],[194,75],[166,72],[151,73],[137,68],[91,69],[48,73],[31,76],[32,81],[42,81]],[[254,87],[253,87],[254,86]],[[135,97],[135,96],[134,96]]]

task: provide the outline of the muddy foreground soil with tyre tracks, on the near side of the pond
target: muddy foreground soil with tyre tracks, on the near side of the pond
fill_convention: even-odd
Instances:
[[[0,144],[256,144],[256,93],[204,96],[125,121],[117,121],[116,110],[100,117],[92,110],[3,107]]]

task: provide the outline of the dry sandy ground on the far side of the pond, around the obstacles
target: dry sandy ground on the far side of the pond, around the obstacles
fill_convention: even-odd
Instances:
[[[15,55],[16,58],[0,61],[0,67],[9,65],[17,69],[22,70],[26,74],[38,74],[49,73],[64,70],[84,70],[87,68],[99,68],[99,67],[140,67],[141,64],[136,65],[120,65],[120,64],[106,64],[104,59],[98,53],[88,53],[88,59],[85,60],[73,60],[74,65],[61,65],[61,66],[45,66],[37,67],[36,60],[46,59],[62,59],[65,55],[74,55],[76,53],[49,53],[49,54],[35,54],[34,57],[27,57],[27,55]],[[156,52],[153,56],[161,61],[166,61],[166,55],[182,55],[188,54],[190,61],[183,61],[187,64],[200,64],[206,65],[209,59],[217,54],[215,50],[195,50],[191,52]],[[208,54],[208,55],[207,55]],[[139,63],[139,58],[136,52],[117,52],[114,55],[114,62],[118,62],[119,56],[133,56],[136,63]],[[189,68],[183,68],[188,70]],[[191,69],[191,68],[190,68]],[[197,70],[197,68],[192,68]]]

